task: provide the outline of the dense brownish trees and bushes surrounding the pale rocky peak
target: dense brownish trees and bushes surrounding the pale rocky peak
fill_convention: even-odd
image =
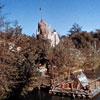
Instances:
[[[34,36],[22,34],[22,28],[14,21],[4,22],[0,7],[0,99],[11,94],[26,95],[28,86],[38,86],[39,64],[49,70],[56,66],[57,71],[66,67],[97,68],[100,67],[100,30],[82,31],[74,24],[69,36],[60,37],[60,43],[51,47],[50,42]],[[5,26],[6,25],[6,26]],[[5,26],[5,27],[4,27]],[[5,31],[2,30],[5,29]],[[34,88],[33,87],[33,88]],[[17,91],[17,92],[16,92]]]

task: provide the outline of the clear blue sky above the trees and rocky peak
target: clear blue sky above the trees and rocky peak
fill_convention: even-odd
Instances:
[[[36,34],[42,17],[60,35],[68,34],[74,23],[84,31],[100,29],[100,0],[0,0],[6,20],[18,20],[27,35]]]

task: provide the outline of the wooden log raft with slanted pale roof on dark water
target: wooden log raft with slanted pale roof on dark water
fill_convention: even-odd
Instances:
[[[51,84],[49,93],[53,95],[93,98],[100,93],[100,77],[97,79],[88,79],[82,70],[70,73],[64,80],[52,79]]]

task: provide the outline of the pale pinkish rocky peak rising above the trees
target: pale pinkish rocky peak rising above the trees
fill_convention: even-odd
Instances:
[[[51,46],[55,47],[59,42],[59,35],[56,30],[51,32],[51,26],[48,26],[43,19],[38,23],[37,38],[49,39]]]

